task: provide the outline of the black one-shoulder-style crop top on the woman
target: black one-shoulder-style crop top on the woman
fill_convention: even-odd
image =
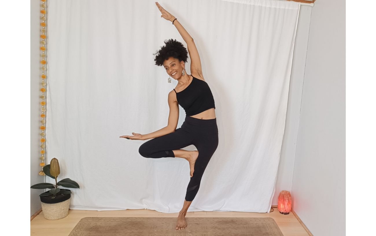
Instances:
[[[215,109],[214,98],[209,85],[195,77],[185,89],[176,92],[176,99],[188,116],[196,115],[213,107]]]

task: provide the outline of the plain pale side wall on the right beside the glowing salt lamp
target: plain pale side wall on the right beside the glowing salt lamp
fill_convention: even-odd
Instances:
[[[345,2],[312,8],[291,195],[315,236],[345,235]]]

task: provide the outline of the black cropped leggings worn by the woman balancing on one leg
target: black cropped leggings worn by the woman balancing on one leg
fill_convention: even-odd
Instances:
[[[200,188],[200,182],[205,168],[218,147],[217,118],[202,120],[185,116],[185,121],[179,129],[141,144],[138,152],[143,157],[161,158],[175,157],[172,150],[194,145],[199,151],[194,164],[193,177],[188,183],[185,194],[186,201],[192,201]]]

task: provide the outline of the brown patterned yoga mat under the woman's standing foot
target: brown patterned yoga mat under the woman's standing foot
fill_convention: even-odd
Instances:
[[[186,217],[176,230],[174,217],[85,217],[68,236],[283,236],[273,218]]]

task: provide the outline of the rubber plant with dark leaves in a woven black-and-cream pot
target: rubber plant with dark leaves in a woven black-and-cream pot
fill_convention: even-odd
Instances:
[[[41,198],[42,211],[46,219],[61,219],[68,215],[70,197],[72,192],[69,189],[60,189],[58,186],[65,188],[80,188],[73,180],[67,178],[58,182],[60,174],[59,161],[53,158],[49,165],[43,167],[43,172],[55,179],[56,185],[52,183],[37,183],[32,185],[32,189],[51,189],[39,195]]]

